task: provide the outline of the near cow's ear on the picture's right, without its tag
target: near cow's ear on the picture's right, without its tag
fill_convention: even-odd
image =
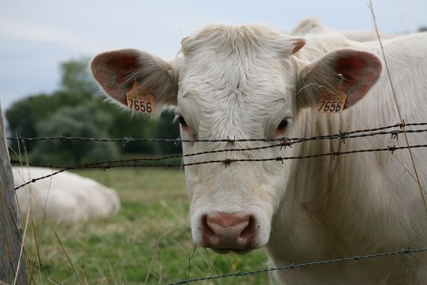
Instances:
[[[373,53],[339,49],[302,69],[297,88],[297,108],[315,106],[321,95],[347,95],[349,108],[371,89],[381,74],[381,61]]]

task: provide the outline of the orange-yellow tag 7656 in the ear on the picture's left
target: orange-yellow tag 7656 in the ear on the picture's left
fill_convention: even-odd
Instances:
[[[132,89],[126,92],[127,107],[139,113],[154,113],[154,96],[134,79]]]

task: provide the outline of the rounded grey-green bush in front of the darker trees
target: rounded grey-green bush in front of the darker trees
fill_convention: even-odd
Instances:
[[[75,107],[63,107],[37,124],[42,136],[63,135],[80,138],[107,138],[111,124],[110,115],[101,110],[96,103],[89,102]],[[31,153],[31,160],[38,163],[57,165],[81,164],[116,160],[119,151],[111,142],[92,142],[79,140],[48,140],[37,142]]]

